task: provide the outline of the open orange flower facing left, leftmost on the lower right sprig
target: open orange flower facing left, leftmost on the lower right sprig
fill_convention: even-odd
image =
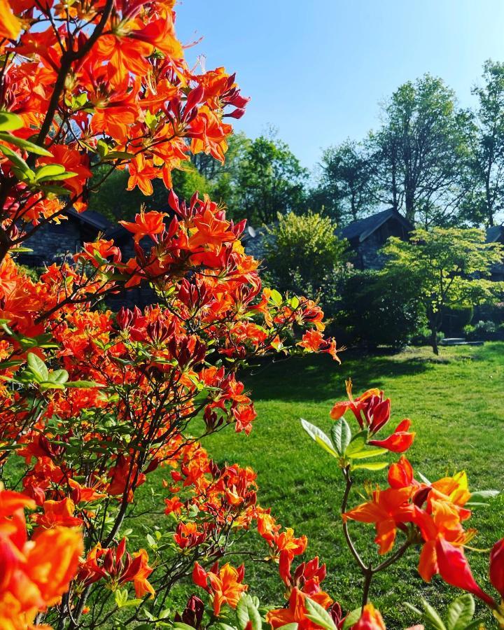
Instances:
[[[371,501],[354,507],[342,517],[345,520],[374,523],[377,531],[374,542],[379,545],[379,554],[386,554],[393,547],[398,524],[414,520],[415,508],[409,503],[413,491],[412,486],[375,490]]]

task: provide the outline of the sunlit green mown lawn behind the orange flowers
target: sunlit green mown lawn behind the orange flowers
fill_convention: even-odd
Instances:
[[[296,533],[307,534],[307,558],[321,556],[328,566],[326,589],[348,609],[360,601],[361,579],[342,536],[338,512],[342,480],[335,461],[303,432],[300,417],[328,430],[331,405],[344,400],[344,381],[351,377],[355,393],[375,386],[391,397],[390,428],[394,421],[412,419],[417,437],[408,456],[416,470],[430,479],[466,470],[471,489],[504,489],[504,344],[443,348],[439,358],[423,348],[368,356],[347,352],[342,360],[338,366],[328,356],[314,356],[254,368],[244,375],[258,412],[251,435],[225,430],[206,438],[204,446],[220,463],[250,465],[258,472],[260,504],[272,506],[279,521],[293,526]],[[383,482],[385,477],[386,472],[356,474],[358,484],[367,479]],[[353,504],[359,501],[354,495]],[[162,527],[162,521],[158,525]],[[471,525],[479,531],[472,542],[479,549],[502,537],[503,498],[475,512]],[[352,525],[352,531],[364,556],[377,558],[372,526]],[[264,554],[253,537],[248,545]],[[477,579],[488,587],[488,556],[469,555]],[[456,593],[437,577],[432,584],[423,583],[416,572],[417,560],[418,549],[411,549],[372,584],[372,600],[392,629],[418,622],[403,602],[414,603],[425,596],[442,608]],[[246,577],[263,603],[281,601],[274,567],[252,563]],[[491,625],[489,613],[482,608],[481,614]]]

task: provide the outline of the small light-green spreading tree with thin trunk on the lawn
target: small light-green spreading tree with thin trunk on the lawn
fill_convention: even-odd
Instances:
[[[491,266],[503,258],[497,244],[485,243],[483,230],[433,228],[414,230],[410,241],[388,239],[384,273],[400,293],[414,287],[425,309],[435,354],[437,332],[447,307],[470,306],[501,295],[504,283],[488,279]]]

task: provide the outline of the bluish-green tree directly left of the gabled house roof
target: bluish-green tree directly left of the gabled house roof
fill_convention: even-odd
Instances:
[[[372,163],[362,144],[346,140],[323,152],[320,181],[311,208],[323,209],[337,223],[356,221],[376,203]]]

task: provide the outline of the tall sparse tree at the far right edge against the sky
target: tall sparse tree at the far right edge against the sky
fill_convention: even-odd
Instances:
[[[472,90],[478,99],[471,146],[474,186],[464,214],[488,226],[504,209],[504,64],[487,61],[483,81]]]

